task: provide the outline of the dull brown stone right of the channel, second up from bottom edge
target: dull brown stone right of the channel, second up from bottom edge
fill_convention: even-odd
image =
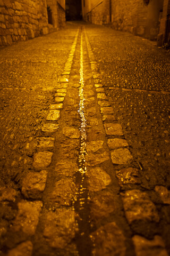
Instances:
[[[90,218],[98,221],[106,218],[116,209],[115,196],[108,191],[102,191],[101,194],[90,199]]]

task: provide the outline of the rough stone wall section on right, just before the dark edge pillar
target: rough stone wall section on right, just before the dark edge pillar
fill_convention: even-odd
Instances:
[[[150,0],[146,5],[142,0],[112,0],[113,27],[154,40],[159,33],[163,2]]]

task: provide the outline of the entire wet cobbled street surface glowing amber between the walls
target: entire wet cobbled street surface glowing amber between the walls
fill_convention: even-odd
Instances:
[[[0,255],[170,255],[169,53],[68,22],[0,57]]]

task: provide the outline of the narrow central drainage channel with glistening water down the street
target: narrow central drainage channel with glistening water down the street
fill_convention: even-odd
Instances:
[[[81,138],[80,138],[80,153],[79,153],[79,170],[75,175],[75,183],[78,186],[77,200],[74,202],[74,209],[79,213],[79,233],[76,237],[76,243],[79,250],[79,255],[91,255],[91,240],[90,240],[90,223],[89,223],[89,202],[88,189],[86,181],[86,117],[84,115],[84,77],[83,77],[83,34],[81,32],[80,45],[80,87],[79,87],[79,114],[81,118]]]

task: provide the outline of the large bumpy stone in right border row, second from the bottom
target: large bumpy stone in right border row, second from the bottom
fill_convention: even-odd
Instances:
[[[126,219],[134,221],[159,222],[159,215],[149,196],[140,190],[128,190],[122,197]]]

